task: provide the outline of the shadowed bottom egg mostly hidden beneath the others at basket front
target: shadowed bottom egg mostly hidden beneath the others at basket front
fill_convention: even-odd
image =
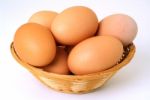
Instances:
[[[57,47],[55,59],[48,66],[44,68],[45,71],[57,74],[69,74],[69,67],[67,64],[67,53],[64,47]]]

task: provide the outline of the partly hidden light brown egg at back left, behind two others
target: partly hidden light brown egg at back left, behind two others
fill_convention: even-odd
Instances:
[[[46,26],[50,29],[53,19],[58,15],[54,11],[39,11],[33,14],[28,22],[34,22]]]

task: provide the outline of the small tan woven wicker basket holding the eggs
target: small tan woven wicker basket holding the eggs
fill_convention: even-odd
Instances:
[[[127,48],[124,48],[122,59],[115,66],[105,71],[87,75],[60,75],[43,71],[21,61],[16,55],[13,43],[10,49],[16,61],[29,70],[42,83],[54,90],[65,93],[87,93],[103,86],[120,68],[130,62],[135,53],[135,45],[130,44]]]

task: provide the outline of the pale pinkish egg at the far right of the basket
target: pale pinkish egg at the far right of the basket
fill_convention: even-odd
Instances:
[[[137,24],[130,16],[113,14],[100,21],[98,35],[114,36],[127,46],[132,43],[137,31]]]

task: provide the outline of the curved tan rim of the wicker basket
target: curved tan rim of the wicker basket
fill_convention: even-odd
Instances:
[[[116,72],[118,71],[120,68],[124,67],[126,64],[128,64],[131,59],[133,58],[134,54],[135,54],[135,45],[134,43],[130,44],[129,46],[130,51],[128,53],[128,55],[124,58],[123,61],[121,61],[119,64],[114,65],[113,67],[106,69],[104,71],[100,71],[100,72],[96,72],[96,73],[91,73],[91,74],[86,74],[86,75],[62,75],[62,74],[56,74],[56,73],[50,73],[50,72],[46,72],[38,67],[34,67],[32,65],[29,65],[23,61],[21,61],[21,59],[19,59],[19,57],[17,56],[14,47],[13,47],[13,42],[10,45],[10,51],[12,56],[15,58],[15,60],[20,63],[22,66],[24,66],[26,69],[28,69],[29,71],[34,72],[36,71],[36,73],[38,74],[42,74],[45,75],[46,77],[54,77],[54,78],[58,78],[58,79],[84,79],[84,78],[90,78],[90,79],[95,79],[97,77],[99,77],[102,74],[109,74],[112,72]]]

